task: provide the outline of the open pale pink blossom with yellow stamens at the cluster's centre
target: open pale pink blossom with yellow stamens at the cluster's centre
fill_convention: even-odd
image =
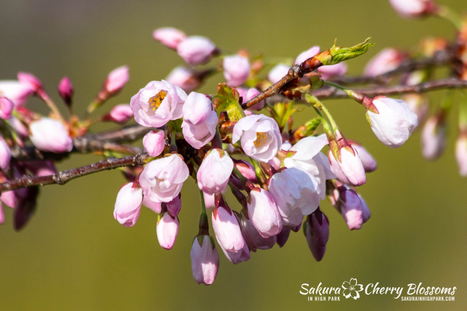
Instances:
[[[233,126],[232,142],[239,140],[245,154],[263,162],[274,158],[282,145],[279,125],[263,114],[242,117]]]

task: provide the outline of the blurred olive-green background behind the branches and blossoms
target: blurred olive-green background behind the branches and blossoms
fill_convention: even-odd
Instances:
[[[457,11],[465,2],[442,1]],[[411,48],[421,36],[447,36],[446,21],[399,18],[385,0],[361,1],[1,1],[0,79],[19,70],[39,76],[58,101],[62,76],[75,87],[75,110],[82,112],[106,74],[127,64],[130,82],[113,104],[128,103],[151,80],[182,64],[176,53],[152,39],[152,31],[174,26],[205,35],[229,53],[244,47],[269,57],[295,57],[334,38],[348,46],[373,36],[367,55],[348,62],[358,74],[386,46]],[[202,90],[213,93],[221,76]],[[431,95],[432,103],[443,92]],[[46,111],[33,99],[30,107]],[[372,217],[350,232],[326,202],[322,210],[331,233],[322,262],[316,263],[301,232],[279,249],[252,254],[232,265],[220,253],[219,274],[211,286],[191,276],[191,241],[198,231],[199,199],[192,180],[185,183],[180,231],[175,247],[156,239],[156,214],[143,209],[134,228],[113,219],[115,196],[124,182],[118,171],[41,189],[37,211],[20,233],[10,209],[0,234],[0,310],[465,310],[466,180],[454,160],[455,114],[446,153],[434,163],[420,155],[419,132],[396,150],[373,135],[364,111],[349,100],[328,102],[344,134],[363,143],[379,168],[359,188]],[[304,110],[297,124],[311,116]],[[95,127],[102,130],[104,127]],[[100,158],[74,155],[58,165],[68,169]],[[235,207],[234,203],[231,204]],[[302,283],[340,286],[359,283],[404,286],[456,286],[454,302],[401,302],[390,296],[354,301],[308,302]],[[343,298],[343,297],[341,297]]]

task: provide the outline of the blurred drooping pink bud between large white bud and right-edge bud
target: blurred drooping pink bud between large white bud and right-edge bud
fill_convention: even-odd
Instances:
[[[425,159],[438,159],[446,148],[446,124],[444,116],[430,117],[422,129],[420,136],[422,154]]]

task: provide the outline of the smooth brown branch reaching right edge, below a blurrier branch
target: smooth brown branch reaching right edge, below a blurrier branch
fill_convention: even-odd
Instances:
[[[449,78],[437,81],[429,81],[416,85],[381,86],[373,89],[356,89],[355,91],[368,97],[375,97],[378,95],[425,93],[433,90],[463,88],[467,88],[466,80]],[[348,98],[348,95],[345,92],[333,87],[322,88],[313,91],[312,94],[321,99]]]

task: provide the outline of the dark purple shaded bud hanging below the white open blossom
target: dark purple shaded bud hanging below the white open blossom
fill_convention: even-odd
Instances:
[[[329,221],[319,208],[313,214],[308,215],[304,223],[304,234],[311,254],[316,261],[321,261],[329,239]]]

